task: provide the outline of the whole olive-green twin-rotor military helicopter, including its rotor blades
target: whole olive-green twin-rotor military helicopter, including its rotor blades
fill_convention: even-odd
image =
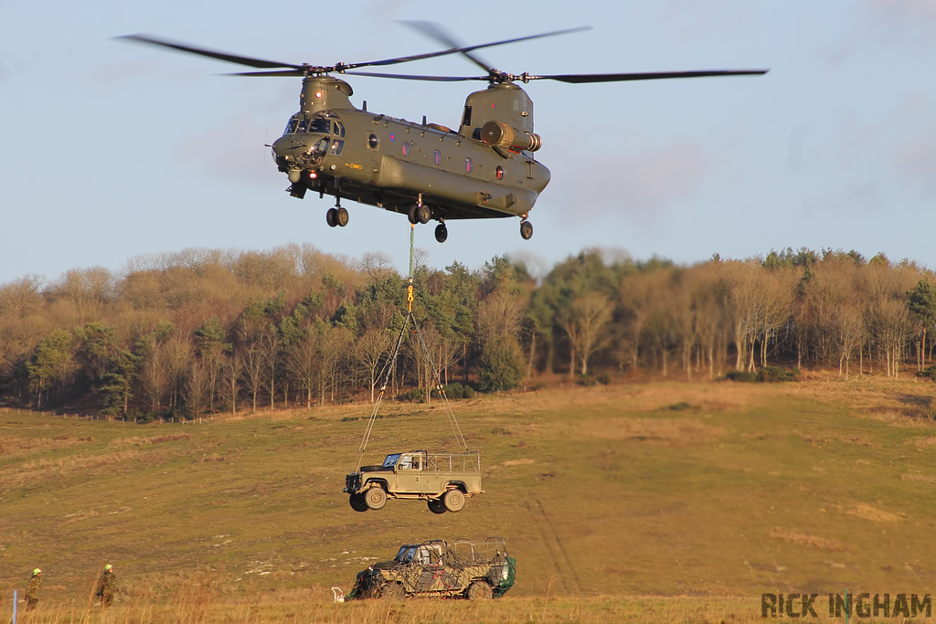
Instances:
[[[661,80],[707,76],[760,75],[768,70],[711,70],[625,74],[510,74],[481,61],[473,52],[545,36],[590,28],[569,28],[520,36],[492,43],[461,46],[431,22],[405,22],[446,46],[445,50],[363,63],[294,65],[196,48],[147,35],[124,39],[247,65],[264,71],[232,76],[299,76],[300,109],[286,123],[283,136],[273,141],[273,161],[289,178],[290,196],[307,191],[319,198],[335,197],[325,215],[331,227],[348,224],[342,199],[406,214],[411,224],[439,222],[435,239],[448,238],[446,221],[456,219],[520,218],[520,236],[530,239],[528,220],[550,173],[534,152],[543,139],[534,133],[533,100],[519,87],[531,80],[559,80],[572,84],[623,80]],[[447,54],[461,54],[481,67],[483,76],[414,76],[351,71],[358,67],[409,63]],[[369,112],[367,102],[351,104],[351,85],[333,74],[440,82],[487,81],[483,91],[469,94],[461,125],[453,130],[438,123],[410,122]]]

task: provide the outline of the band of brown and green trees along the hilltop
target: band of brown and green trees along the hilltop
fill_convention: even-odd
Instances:
[[[929,370],[931,271],[884,254],[771,251],[692,266],[587,250],[534,279],[521,261],[417,261],[413,310],[449,394],[557,375],[714,379],[770,365],[897,376]],[[117,417],[195,417],[373,400],[407,309],[385,254],[311,245],[192,249],[120,274],[71,270],[0,285],[0,398]],[[388,392],[431,400],[411,335]]]

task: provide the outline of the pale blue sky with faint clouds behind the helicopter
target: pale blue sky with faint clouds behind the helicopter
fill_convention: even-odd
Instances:
[[[936,268],[936,4],[931,0],[473,0],[273,5],[245,0],[0,0],[0,284],[137,256],[311,243],[405,270],[405,216],[288,196],[265,148],[299,109],[299,78],[233,78],[211,59],[128,44],[146,33],[287,63],[436,51],[401,21],[519,74],[769,69],[762,77],[524,85],[552,181],[519,219],[449,222],[427,262],[499,254],[543,274],[586,248],[678,263],[807,247]],[[471,76],[451,55],[399,73]],[[345,77],[360,107],[457,127],[483,82]]]

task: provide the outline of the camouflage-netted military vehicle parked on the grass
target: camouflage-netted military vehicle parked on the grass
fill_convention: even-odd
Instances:
[[[499,598],[513,587],[516,571],[516,560],[507,556],[500,537],[405,544],[392,561],[374,563],[358,573],[348,598]]]

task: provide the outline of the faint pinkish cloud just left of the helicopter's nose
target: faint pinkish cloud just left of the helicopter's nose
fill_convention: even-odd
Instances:
[[[270,148],[264,147],[265,132],[263,124],[252,118],[236,117],[186,138],[176,156],[214,178],[269,184],[276,167]]]

